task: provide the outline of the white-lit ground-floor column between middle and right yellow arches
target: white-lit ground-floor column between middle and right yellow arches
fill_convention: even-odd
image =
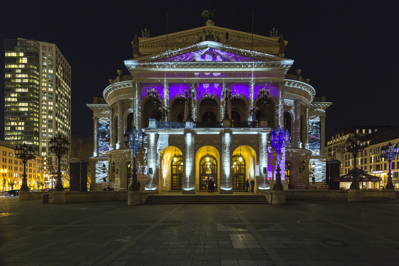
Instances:
[[[233,193],[233,172],[231,171],[231,130],[225,130],[222,135],[222,154],[220,160],[220,181],[219,193],[232,194]]]

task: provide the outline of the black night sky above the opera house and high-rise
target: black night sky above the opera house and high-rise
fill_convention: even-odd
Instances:
[[[131,41],[148,28],[150,37],[205,26],[201,13],[216,9],[215,26],[269,36],[275,27],[288,41],[288,73],[310,79],[327,109],[326,139],[355,125],[399,123],[397,1],[7,1],[1,8],[4,39],[55,43],[71,65],[73,135],[93,133],[86,106],[103,97],[117,69],[132,58]],[[4,57],[1,57],[4,68]],[[4,102],[4,79],[1,101]],[[4,108],[1,108],[4,125]],[[4,127],[0,131],[4,140]]]

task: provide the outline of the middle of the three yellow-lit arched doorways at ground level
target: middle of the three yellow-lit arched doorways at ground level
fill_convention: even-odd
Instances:
[[[219,188],[219,152],[213,146],[203,146],[199,148],[196,155],[196,191],[207,192],[208,181],[211,179],[214,191]]]

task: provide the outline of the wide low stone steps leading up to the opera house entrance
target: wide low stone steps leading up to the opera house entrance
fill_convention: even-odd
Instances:
[[[265,195],[148,196],[144,204],[267,204]]]

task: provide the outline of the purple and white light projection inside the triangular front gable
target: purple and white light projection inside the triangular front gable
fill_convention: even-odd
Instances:
[[[233,53],[227,53],[219,49],[213,49],[211,47],[201,49],[195,52],[185,53],[182,55],[176,55],[169,58],[158,60],[158,62],[257,62],[259,60],[245,57],[242,55],[236,55]]]

